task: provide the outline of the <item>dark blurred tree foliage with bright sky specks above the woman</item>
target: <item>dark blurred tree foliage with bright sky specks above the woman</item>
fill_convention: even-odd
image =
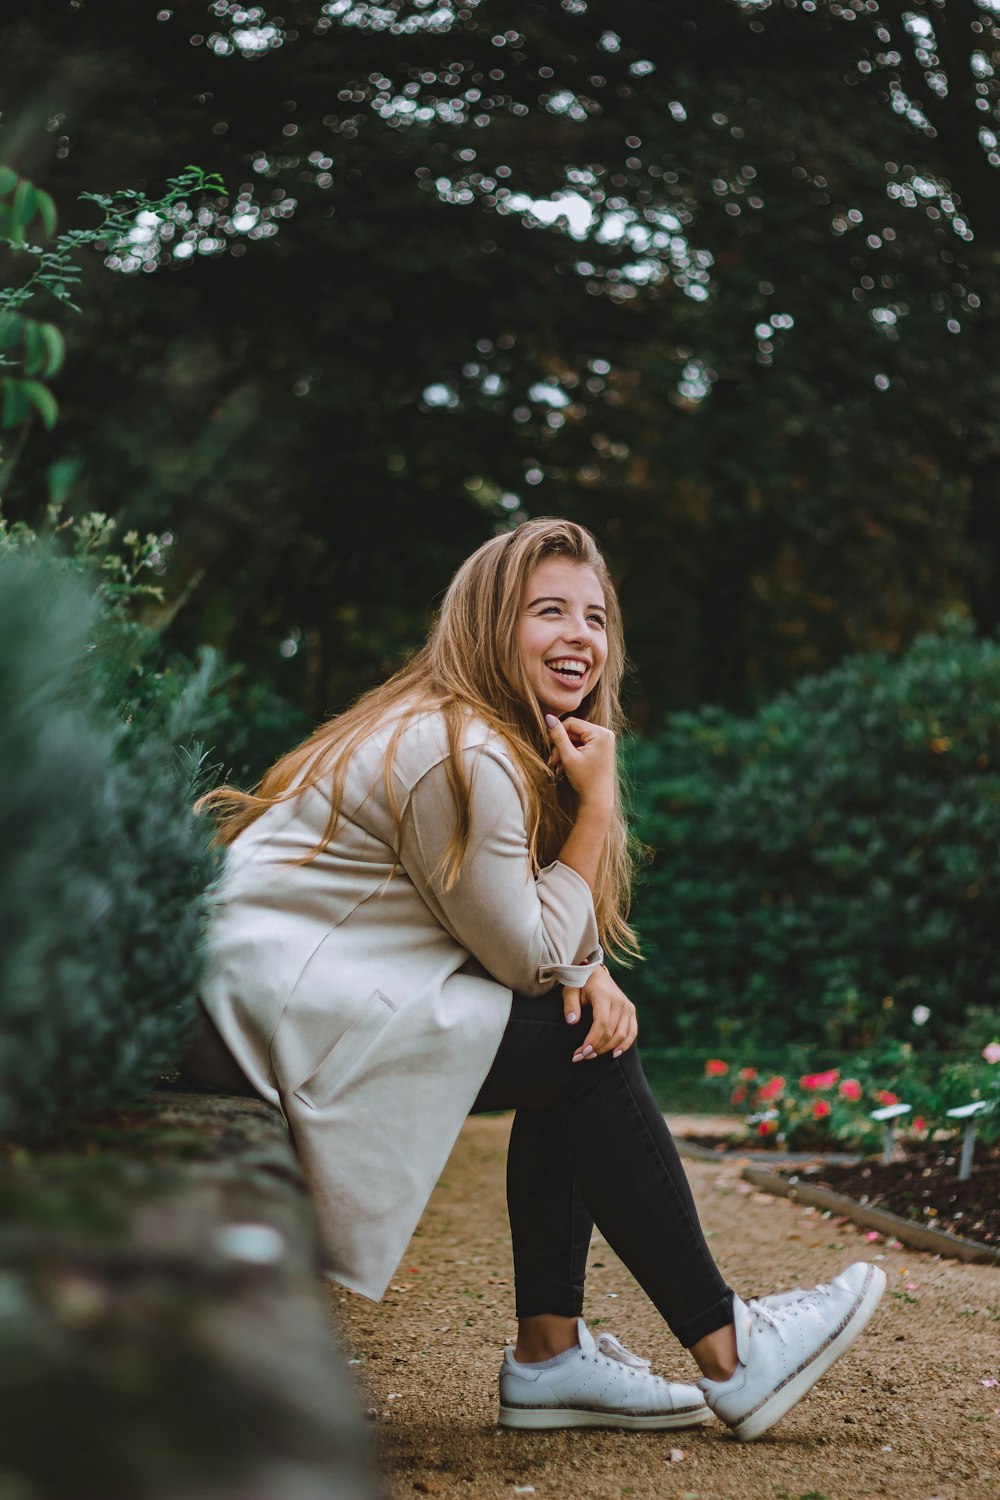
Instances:
[[[526,513],[607,548],[640,728],[945,608],[990,630],[999,32],[964,0],[7,0],[18,172],[229,184],[87,258],[9,504],[75,462],[81,508],[168,525],[169,640],[312,716]]]

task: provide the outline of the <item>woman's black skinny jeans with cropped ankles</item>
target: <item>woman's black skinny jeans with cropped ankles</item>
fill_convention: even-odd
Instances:
[[[733,1293],[636,1047],[571,1062],[589,1028],[586,1008],[568,1026],[553,994],[516,994],[472,1106],[474,1114],[517,1112],[507,1155],[517,1317],[580,1314],[597,1224],[690,1348],[732,1322]]]

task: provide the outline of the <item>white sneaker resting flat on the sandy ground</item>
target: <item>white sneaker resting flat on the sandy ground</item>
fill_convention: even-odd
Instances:
[[[700,1426],[712,1413],[697,1386],[661,1380],[649,1360],[625,1348],[612,1334],[591,1335],[577,1320],[580,1347],[549,1370],[519,1365],[504,1350],[501,1426],[615,1426],[649,1431]]]

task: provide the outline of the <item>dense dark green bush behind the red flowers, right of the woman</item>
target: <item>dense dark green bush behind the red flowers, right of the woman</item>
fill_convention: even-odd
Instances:
[[[654,856],[631,987],[655,1028],[837,1056],[996,1014],[999,766],[1000,645],[964,622],[637,742]]]

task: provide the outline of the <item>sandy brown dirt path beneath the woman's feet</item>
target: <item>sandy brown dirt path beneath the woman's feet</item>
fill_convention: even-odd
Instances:
[[[333,1288],[393,1500],[997,1500],[1000,1270],[867,1242],[850,1224],[688,1162],[709,1242],[741,1296],[882,1258],[870,1328],[757,1443],[687,1432],[510,1432],[496,1372],[514,1338],[504,1206],[510,1116],[468,1120],[379,1305]],[[597,1234],[586,1318],[691,1380],[691,1358]]]

